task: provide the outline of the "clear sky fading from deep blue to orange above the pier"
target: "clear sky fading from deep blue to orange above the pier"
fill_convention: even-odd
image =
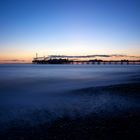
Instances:
[[[0,63],[36,53],[138,59],[140,0],[0,0]]]

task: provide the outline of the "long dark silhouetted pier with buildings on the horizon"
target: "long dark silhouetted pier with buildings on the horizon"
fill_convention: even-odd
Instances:
[[[36,57],[32,61],[33,64],[96,64],[96,65],[140,65],[140,60],[100,60],[100,59],[91,59],[91,60],[75,60],[69,59],[66,56],[49,56],[49,57]]]

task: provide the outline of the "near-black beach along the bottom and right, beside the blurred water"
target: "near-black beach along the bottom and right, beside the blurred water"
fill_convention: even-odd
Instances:
[[[91,113],[86,116],[80,114],[71,117],[64,115],[55,121],[45,122],[36,126],[16,126],[17,122],[11,122],[10,128],[4,131],[0,137],[4,139],[46,139],[46,140],[120,140],[120,139],[140,139],[140,83],[121,84],[115,86],[102,87],[104,92],[119,94],[120,96],[133,99],[139,102],[137,107],[129,110],[119,110],[114,106],[116,115],[113,112],[101,110],[100,113]],[[83,93],[92,96],[101,94],[100,87],[84,89]],[[118,91],[118,93],[116,92]],[[120,93],[121,91],[121,93]],[[78,91],[80,92],[80,91]],[[77,92],[77,93],[78,93]],[[131,94],[133,93],[133,95]],[[83,110],[84,111],[84,110]],[[39,114],[40,112],[38,112]],[[42,114],[43,115],[43,114]],[[45,115],[45,114],[44,114]],[[24,122],[22,122],[24,124]]]

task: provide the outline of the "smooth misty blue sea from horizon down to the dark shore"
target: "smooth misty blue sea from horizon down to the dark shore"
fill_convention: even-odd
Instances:
[[[133,83],[140,78],[138,65],[0,65],[0,124],[20,120],[31,125],[67,114],[138,108],[133,99],[111,93],[77,94],[89,87]],[[115,106],[115,109],[114,109]]]

